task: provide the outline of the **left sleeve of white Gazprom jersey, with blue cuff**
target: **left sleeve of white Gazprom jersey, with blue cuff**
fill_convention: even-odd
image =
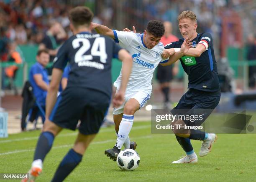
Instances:
[[[133,32],[123,32],[118,30],[113,30],[113,32],[115,36],[115,42],[119,43],[119,45],[123,48],[128,47],[134,39]]]

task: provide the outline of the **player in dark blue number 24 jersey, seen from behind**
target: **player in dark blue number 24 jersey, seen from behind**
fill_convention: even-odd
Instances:
[[[121,105],[132,67],[132,57],[109,37],[90,33],[92,12],[87,7],[70,11],[73,36],[59,49],[54,59],[52,80],[46,98],[46,122],[38,139],[29,179],[40,175],[43,161],[51,150],[54,137],[62,128],[75,130],[81,121],[74,147],[57,168],[52,182],[63,181],[81,162],[90,142],[100,129],[112,94],[111,62],[113,57],[123,61],[122,83],[113,98],[115,107]],[[64,67],[69,62],[67,88],[56,99]]]

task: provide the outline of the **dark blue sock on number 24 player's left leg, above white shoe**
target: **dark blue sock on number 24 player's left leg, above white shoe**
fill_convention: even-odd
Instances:
[[[34,161],[37,159],[41,159],[42,161],[44,161],[45,156],[51,150],[53,141],[54,141],[54,135],[51,132],[41,133],[36,145]]]

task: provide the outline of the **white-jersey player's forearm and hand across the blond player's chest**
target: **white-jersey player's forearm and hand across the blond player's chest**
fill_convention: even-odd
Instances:
[[[191,40],[185,39],[184,42],[182,43],[182,46],[180,47],[180,50],[175,52],[174,55],[170,56],[167,62],[161,63],[161,65],[162,66],[172,65],[174,62],[179,60],[179,58],[187,54],[189,48],[192,47],[191,44],[192,44]],[[162,55],[162,57],[165,57],[165,55]]]

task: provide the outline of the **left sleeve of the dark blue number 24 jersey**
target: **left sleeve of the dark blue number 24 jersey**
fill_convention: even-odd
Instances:
[[[68,41],[68,40],[67,40]],[[54,68],[59,68],[64,70],[64,67],[68,62],[68,50],[67,50],[67,41],[59,48],[56,57],[54,58]]]

